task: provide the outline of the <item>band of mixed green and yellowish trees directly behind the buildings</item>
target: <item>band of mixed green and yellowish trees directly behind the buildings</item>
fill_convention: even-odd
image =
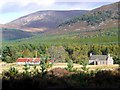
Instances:
[[[20,44],[17,46],[6,45],[2,49],[2,61],[12,63],[17,58],[34,58],[47,55],[55,62],[68,62],[72,60],[74,63],[81,63],[83,60],[89,60],[89,54],[107,55],[108,53],[114,59],[114,63],[120,64],[120,46],[117,44],[98,45],[45,45],[45,44]]]

